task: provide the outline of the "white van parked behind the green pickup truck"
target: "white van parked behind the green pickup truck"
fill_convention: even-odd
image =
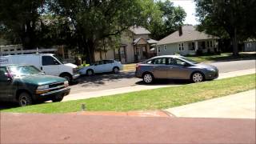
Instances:
[[[78,66],[72,63],[63,64],[54,54],[21,54],[0,56],[0,66],[6,64],[28,64],[36,66],[47,75],[66,78],[69,82],[79,77]]]

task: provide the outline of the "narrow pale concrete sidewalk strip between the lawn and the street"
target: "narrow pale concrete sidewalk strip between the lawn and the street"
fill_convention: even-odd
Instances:
[[[238,76],[242,76],[242,75],[246,75],[246,74],[255,74],[255,69],[239,70],[239,71],[234,71],[234,72],[222,73],[222,74],[219,74],[218,79],[238,77]],[[70,94],[70,95],[66,96],[63,99],[63,101],[86,99],[86,98],[97,98],[97,97],[108,96],[108,95],[113,95],[113,94],[130,93],[130,92],[140,91],[140,90],[158,89],[158,88],[167,87],[167,86],[179,86],[179,85],[174,85],[174,84],[136,85],[136,86],[127,86],[127,87],[121,87],[121,88],[110,89],[110,90],[83,92],[83,93],[79,93],[79,94]]]

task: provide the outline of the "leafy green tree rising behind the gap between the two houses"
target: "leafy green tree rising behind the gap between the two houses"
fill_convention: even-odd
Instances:
[[[165,2],[158,1],[156,3],[162,14],[161,21],[154,22],[150,25],[151,37],[155,39],[162,39],[168,34],[178,30],[178,26],[182,26],[186,18],[186,12],[182,7],[174,6],[173,2],[166,0]]]

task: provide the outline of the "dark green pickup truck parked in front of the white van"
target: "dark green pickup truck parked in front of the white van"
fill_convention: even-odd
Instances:
[[[19,106],[35,102],[61,102],[70,94],[65,78],[45,75],[34,66],[0,66],[0,101],[18,102]]]

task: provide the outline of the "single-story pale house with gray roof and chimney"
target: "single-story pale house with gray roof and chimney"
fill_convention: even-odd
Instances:
[[[157,54],[194,55],[198,50],[207,53],[217,51],[217,49],[218,37],[199,32],[195,26],[182,26],[158,42]]]

